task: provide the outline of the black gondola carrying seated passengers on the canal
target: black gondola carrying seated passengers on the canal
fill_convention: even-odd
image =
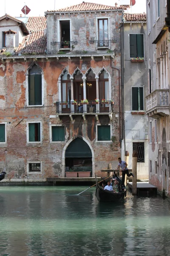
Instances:
[[[114,175],[114,178],[121,183],[121,180],[117,175]],[[96,182],[96,198],[99,202],[118,202],[125,198],[126,196],[126,189],[121,190],[119,193],[114,193],[108,190],[104,190],[102,186]]]

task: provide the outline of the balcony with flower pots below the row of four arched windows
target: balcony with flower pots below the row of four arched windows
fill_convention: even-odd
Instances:
[[[72,115],[82,115],[85,119],[85,115],[108,114],[112,120],[114,102],[56,102],[57,117],[60,115],[69,115],[72,119]]]

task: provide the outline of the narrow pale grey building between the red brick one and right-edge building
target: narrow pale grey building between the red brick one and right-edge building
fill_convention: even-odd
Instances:
[[[124,126],[122,157],[129,151],[132,169],[133,151],[138,151],[137,178],[148,179],[147,96],[147,24],[146,14],[124,14]]]

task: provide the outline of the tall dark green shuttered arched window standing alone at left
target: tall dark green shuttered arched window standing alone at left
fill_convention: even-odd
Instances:
[[[42,70],[36,64],[28,72],[28,105],[42,105]]]

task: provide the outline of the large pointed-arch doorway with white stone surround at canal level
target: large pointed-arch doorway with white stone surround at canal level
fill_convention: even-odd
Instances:
[[[75,136],[66,143],[62,151],[62,177],[65,169],[91,170],[94,177],[94,150],[91,144],[82,136]]]

